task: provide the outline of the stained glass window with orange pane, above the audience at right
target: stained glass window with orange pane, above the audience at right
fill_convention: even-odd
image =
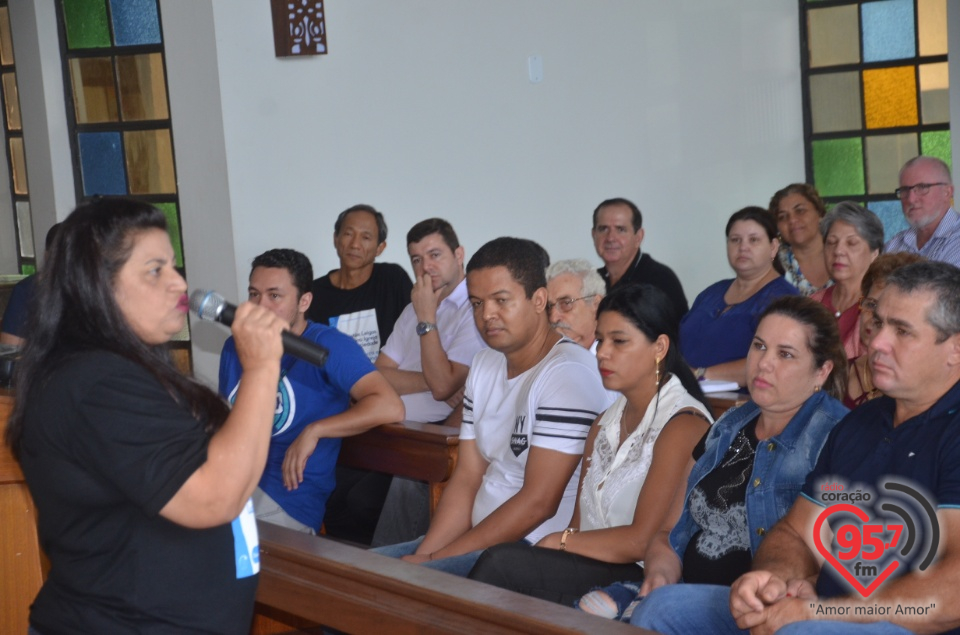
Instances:
[[[866,203],[887,238],[906,227],[903,164],[952,165],[946,25],[946,0],[800,0],[807,180]]]

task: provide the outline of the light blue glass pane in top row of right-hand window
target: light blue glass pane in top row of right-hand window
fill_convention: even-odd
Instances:
[[[863,61],[898,60],[916,55],[913,0],[883,0],[860,5]]]

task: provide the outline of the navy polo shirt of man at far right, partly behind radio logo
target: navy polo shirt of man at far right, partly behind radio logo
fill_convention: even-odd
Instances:
[[[880,397],[844,417],[831,432],[816,467],[807,477],[803,496],[827,507],[833,502],[824,501],[821,485],[839,482],[848,493],[857,489],[870,492],[870,502],[853,504],[867,511],[871,519],[882,519],[871,522],[896,519],[880,509],[884,502],[909,508],[915,519],[925,518],[922,507],[913,504],[909,497],[892,494],[883,487],[890,479],[919,489],[938,509],[960,508],[960,382],[929,410],[896,428],[893,427],[895,406],[893,399]],[[841,514],[831,520],[834,518],[836,522],[831,524],[834,530],[845,524]],[[920,524],[917,539],[923,545],[926,522]],[[943,540],[941,535],[941,544]],[[905,538],[901,538],[899,544],[905,544],[904,541]],[[908,554],[908,566],[901,566],[894,576],[911,571],[926,554],[927,549],[914,546]],[[824,564],[817,579],[817,593],[821,597],[833,597],[850,592],[846,581],[832,566]]]

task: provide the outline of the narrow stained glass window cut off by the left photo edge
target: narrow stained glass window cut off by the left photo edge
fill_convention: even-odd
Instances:
[[[16,228],[17,263],[20,273],[36,269],[33,225],[30,223],[30,184],[27,179],[27,153],[23,145],[23,120],[17,89],[17,67],[13,54],[13,29],[7,0],[0,0],[0,124],[3,127],[3,153],[7,157],[13,217]]]

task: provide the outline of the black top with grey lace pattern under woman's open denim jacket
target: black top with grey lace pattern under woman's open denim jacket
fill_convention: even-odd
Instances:
[[[703,456],[706,436],[694,448]],[[700,526],[683,554],[683,581],[729,586],[750,571],[750,533],[747,528],[747,483],[757,449],[757,419],[733,438],[720,464],[690,492],[690,515]]]

